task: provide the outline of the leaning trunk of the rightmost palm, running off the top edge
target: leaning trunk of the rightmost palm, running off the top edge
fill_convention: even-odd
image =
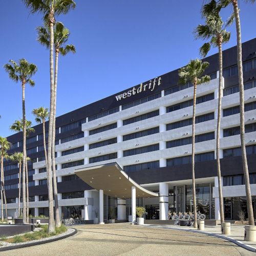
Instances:
[[[247,212],[248,212],[248,221],[249,225],[254,226],[253,218],[253,209],[251,201],[251,189],[250,189],[250,180],[249,172],[247,165],[246,157],[246,148],[245,148],[245,129],[244,129],[244,81],[243,81],[243,65],[242,65],[242,40],[241,40],[241,26],[240,26],[240,17],[238,9],[238,1],[232,0],[232,5],[234,9],[234,16],[236,18],[236,29],[237,29],[237,57],[238,57],[238,79],[239,79],[239,96],[240,96],[240,138],[241,138],[241,152],[243,160],[243,169],[244,169],[244,181],[245,181],[245,192],[247,199]]]

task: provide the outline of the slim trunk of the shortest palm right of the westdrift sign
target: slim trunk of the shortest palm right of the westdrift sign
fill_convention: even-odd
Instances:
[[[195,122],[196,122],[196,100],[197,100],[197,83],[194,83],[193,96],[193,118],[192,118],[192,188],[193,188],[193,205],[194,205],[194,227],[197,228],[197,200],[196,200],[196,183],[195,183]]]

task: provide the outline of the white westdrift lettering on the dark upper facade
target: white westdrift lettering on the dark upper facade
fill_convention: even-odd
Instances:
[[[155,77],[154,80],[150,80],[148,83],[141,83],[137,88],[133,88],[132,90],[127,91],[126,93],[122,93],[116,96],[116,100],[119,101],[121,99],[125,99],[127,97],[131,97],[132,95],[145,92],[146,90],[154,91],[156,84],[160,86],[161,77]]]

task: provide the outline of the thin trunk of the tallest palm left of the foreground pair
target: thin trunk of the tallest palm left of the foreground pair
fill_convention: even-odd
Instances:
[[[22,203],[23,203],[23,224],[27,224],[26,218],[26,116],[25,116],[25,81],[22,82],[22,113],[23,113],[23,170],[22,170]]]

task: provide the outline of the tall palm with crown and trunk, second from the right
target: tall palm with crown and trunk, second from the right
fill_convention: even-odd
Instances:
[[[215,8],[208,11],[208,6],[212,5]],[[221,101],[222,101],[222,89],[223,89],[223,77],[222,77],[222,44],[229,41],[230,32],[225,30],[226,26],[232,23],[231,16],[224,24],[220,17],[221,8],[217,5],[215,0],[211,0],[208,4],[204,5],[201,12],[205,17],[205,25],[198,25],[195,33],[197,38],[208,40],[200,48],[200,54],[205,57],[211,47],[218,47],[219,50],[219,99],[218,99],[218,120],[217,120],[217,140],[216,140],[216,158],[217,158],[217,176],[219,183],[219,204],[220,204],[220,217],[221,223],[224,222],[224,209],[223,209],[223,197],[222,197],[222,182],[221,182],[221,165],[220,165],[220,124],[221,124]]]

